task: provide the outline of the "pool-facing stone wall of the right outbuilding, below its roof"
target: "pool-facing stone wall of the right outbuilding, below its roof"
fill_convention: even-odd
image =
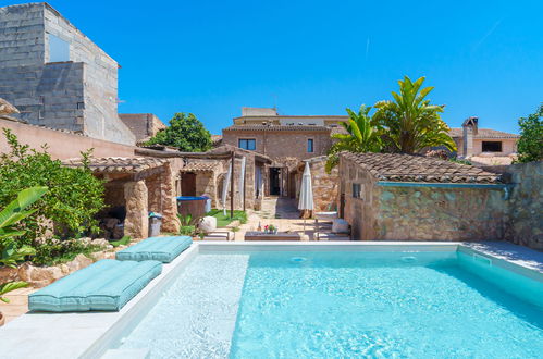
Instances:
[[[499,240],[503,189],[382,187],[375,239]]]

